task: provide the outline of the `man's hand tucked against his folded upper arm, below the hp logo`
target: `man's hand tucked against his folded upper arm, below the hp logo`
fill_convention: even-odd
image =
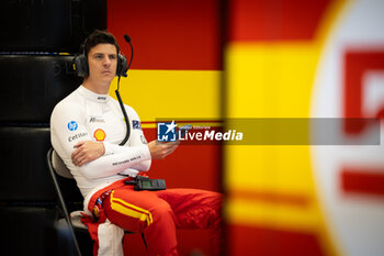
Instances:
[[[80,167],[91,160],[104,155],[104,144],[100,142],[83,141],[75,145],[75,151],[70,156],[74,165]]]

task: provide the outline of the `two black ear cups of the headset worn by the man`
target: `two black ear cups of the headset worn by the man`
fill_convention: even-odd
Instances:
[[[86,57],[84,52],[82,54],[76,55],[74,58],[74,69],[78,77],[88,77],[89,76],[89,66],[88,58]],[[127,60],[123,54],[117,56],[117,68],[116,76],[127,77]]]

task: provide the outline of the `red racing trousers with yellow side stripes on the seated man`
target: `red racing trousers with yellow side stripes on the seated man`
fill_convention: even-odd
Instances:
[[[221,204],[222,194],[212,191],[135,191],[120,185],[103,200],[102,211],[113,224],[144,233],[149,256],[178,255],[176,229],[212,229],[212,244],[221,255]]]

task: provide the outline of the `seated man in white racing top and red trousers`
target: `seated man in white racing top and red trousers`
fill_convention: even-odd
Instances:
[[[136,191],[124,181],[163,159],[174,143],[147,143],[136,111],[124,105],[131,136],[116,100],[109,96],[122,63],[115,37],[94,31],[86,40],[82,85],[61,100],[50,116],[52,144],[70,169],[83,198],[94,255],[123,255],[123,230],[144,233],[149,255],[178,255],[176,229],[212,229],[219,255],[221,201],[216,192],[194,189]],[[118,69],[117,69],[118,66]],[[123,176],[125,175],[125,176]]]

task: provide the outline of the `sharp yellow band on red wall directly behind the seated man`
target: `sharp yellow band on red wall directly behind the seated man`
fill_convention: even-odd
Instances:
[[[117,78],[110,94],[115,98]],[[121,79],[120,93],[142,121],[156,118],[218,119],[221,115],[221,71],[217,70],[129,70]]]

